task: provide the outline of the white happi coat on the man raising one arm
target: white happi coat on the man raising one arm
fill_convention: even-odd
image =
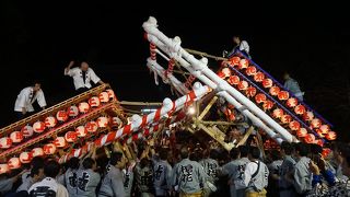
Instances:
[[[90,81],[93,81],[94,83],[97,83],[101,79],[95,74],[94,70],[89,68],[85,73],[85,82],[83,79],[83,71],[75,67],[72,69],[65,69],[65,76],[69,76],[73,78],[75,90],[80,88],[88,88],[91,89]]]

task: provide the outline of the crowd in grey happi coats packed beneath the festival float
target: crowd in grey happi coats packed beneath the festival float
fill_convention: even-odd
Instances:
[[[21,173],[0,175],[0,192],[11,197],[350,196],[346,143],[332,143],[324,155],[318,144],[303,142],[282,142],[262,154],[253,144],[226,151],[192,140],[154,141],[93,146],[63,164],[34,158]]]

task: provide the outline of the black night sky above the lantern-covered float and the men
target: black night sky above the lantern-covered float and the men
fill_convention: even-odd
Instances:
[[[232,47],[232,35],[242,35],[258,65],[280,81],[289,70],[306,92],[306,103],[349,139],[346,7],[283,3],[2,0],[0,126],[13,120],[15,97],[33,80],[42,81],[49,106],[68,99],[73,83],[63,68],[70,60],[88,60],[119,100],[159,102],[170,96],[168,86],[156,86],[145,67],[149,44],[141,25],[153,15],[167,36],[180,36],[183,47],[218,56]]]

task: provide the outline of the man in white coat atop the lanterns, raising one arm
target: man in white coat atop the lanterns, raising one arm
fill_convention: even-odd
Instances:
[[[90,81],[95,84],[104,84],[104,82],[95,74],[94,70],[89,67],[85,61],[82,61],[80,67],[71,68],[74,61],[70,61],[68,67],[65,69],[65,76],[73,78],[74,88],[78,93],[83,93],[91,89]]]

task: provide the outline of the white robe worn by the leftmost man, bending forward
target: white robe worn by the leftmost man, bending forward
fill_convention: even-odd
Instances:
[[[22,112],[22,107],[25,107],[26,112],[34,112],[33,103],[37,100],[37,103],[40,107],[46,106],[46,101],[44,92],[42,90],[37,91],[35,95],[33,94],[34,90],[32,86],[23,89],[14,104],[14,112]]]

